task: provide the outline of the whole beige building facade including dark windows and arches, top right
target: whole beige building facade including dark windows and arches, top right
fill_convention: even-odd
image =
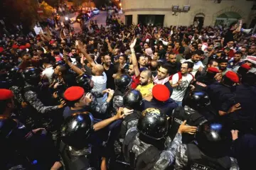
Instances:
[[[154,24],[159,26],[189,26],[197,19],[203,26],[229,25],[242,18],[247,27],[254,27],[253,0],[122,0],[127,24]],[[173,11],[179,6],[180,11]],[[190,6],[187,12],[183,6]],[[256,19],[255,19],[256,21]]]

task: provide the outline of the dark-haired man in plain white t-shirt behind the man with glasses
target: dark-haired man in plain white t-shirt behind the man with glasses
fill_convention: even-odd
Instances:
[[[196,75],[196,72],[202,72],[204,65],[201,62],[201,52],[199,50],[193,52],[191,59],[189,60],[185,60],[183,62],[193,62],[194,66],[193,66],[193,71],[191,72],[191,74],[193,74],[193,76]],[[181,62],[182,63],[182,62]]]

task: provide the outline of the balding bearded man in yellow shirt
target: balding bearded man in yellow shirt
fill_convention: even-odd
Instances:
[[[136,88],[141,92],[142,98],[145,98],[146,100],[151,99],[153,86],[151,71],[148,69],[142,71],[139,77],[139,86]]]

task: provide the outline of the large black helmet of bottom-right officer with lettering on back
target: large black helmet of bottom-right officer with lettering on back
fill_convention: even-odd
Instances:
[[[198,127],[196,144],[210,157],[223,157],[230,149],[232,135],[223,123],[205,122]]]

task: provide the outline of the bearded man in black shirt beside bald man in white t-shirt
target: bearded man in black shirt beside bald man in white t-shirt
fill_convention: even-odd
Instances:
[[[105,55],[103,57],[103,67],[104,72],[107,75],[107,89],[115,89],[114,86],[114,78],[112,77],[114,74],[114,64],[111,63],[111,57],[109,55]]]

